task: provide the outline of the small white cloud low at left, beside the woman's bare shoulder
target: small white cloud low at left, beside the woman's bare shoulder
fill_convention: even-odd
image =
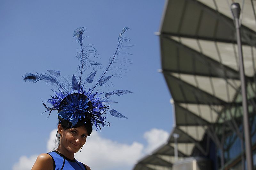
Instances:
[[[29,158],[21,156],[19,162],[15,163],[12,170],[28,170],[31,169],[36,161],[37,155],[32,155]]]

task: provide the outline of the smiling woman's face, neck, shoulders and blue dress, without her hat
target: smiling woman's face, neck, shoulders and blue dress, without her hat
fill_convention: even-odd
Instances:
[[[60,145],[56,151],[40,154],[32,170],[54,170],[54,169],[82,169],[90,170],[90,167],[78,162],[74,158],[76,153],[85,144],[87,136],[90,135],[85,126],[67,128],[58,125],[60,134]]]

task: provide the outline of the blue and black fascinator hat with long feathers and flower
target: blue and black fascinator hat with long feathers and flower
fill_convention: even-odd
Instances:
[[[109,100],[109,98],[113,95],[120,96],[133,92],[121,89],[105,93],[99,93],[98,91],[100,87],[107,85],[111,77],[118,76],[118,74],[109,75],[111,69],[118,71],[118,69],[122,69],[121,66],[124,63],[131,62],[129,59],[118,56],[119,54],[124,54],[120,52],[123,48],[131,47],[131,45],[126,45],[130,39],[123,37],[124,32],[128,29],[128,27],[125,27],[118,36],[116,51],[110,57],[108,65],[96,80],[94,80],[97,73],[95,67],[99,67],[100,64],[91,58],[97,57],[98,54],[91,44],[83,45],[83,33],[86,31],[84,27],[80,27],[74,31],[73,37],[80,46],[80,49],[76,53],[76,57],[80,63],[78,66],[78,75],[73,74],[71,81],[67,79],[60,81],[59,79],[62,76],[60,76],[60,71],[57,70],[47,70],[47,73],[26,73],[23,75],[24,81],[36,83],[42,80],[48,85],[54,85],[56,87],[52,89],[54,95],[47,101],[51,106],[48,106],[48,104],[42,101],[46,108],[45,112],[49,111],[49,116],[53,110],[57,110],[60,124],[66,127],[79,127],[90,123],[95,125],[96,130],[101,130],[101,127],[103,128],[105,125],[110,125],[106,121],[107,116],[105,116],[108,112],[114,117],[127,118],[117,110],[110,109],[109,103],[117,102]],[[89,76],[86,78],[83,77],[85,72],[89,73],[87,73]],[[90,87],[90,84],[94,85]]]

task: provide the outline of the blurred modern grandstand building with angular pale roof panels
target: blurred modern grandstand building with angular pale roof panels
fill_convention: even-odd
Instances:
[[[174,126],[166,143],[140,159],[133,170],[172,170],[180,165],[190,170],[184,168],[186,162],[191,163],[191,169],[244,169],[241,81],[232,2],[166,1],[159,38]],[[235,2],[241,5],[241,41],[256,168],[256,1]]]

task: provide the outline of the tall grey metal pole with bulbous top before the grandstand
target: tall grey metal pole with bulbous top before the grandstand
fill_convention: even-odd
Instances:
[[[235,19],[236,38],[237,38],[237,47],[238,47],[238,55],[239,55],[239,72],[240,72],[241,90],[242,90],[242,98],[243,98],[245,156],[246,156],[246,162],[247,162],[247,169],[253,170],[252,143],[251,143],[249,116],[248,116],[246,83],[245,83],[245,76],[244,76],[244,61],[243,61],[243,52],[242,52],[240,25],[239,25],[239,17],[240,17],[240,11],[241,11],[240,5],[238,3],[231,4],[231,11]]]

